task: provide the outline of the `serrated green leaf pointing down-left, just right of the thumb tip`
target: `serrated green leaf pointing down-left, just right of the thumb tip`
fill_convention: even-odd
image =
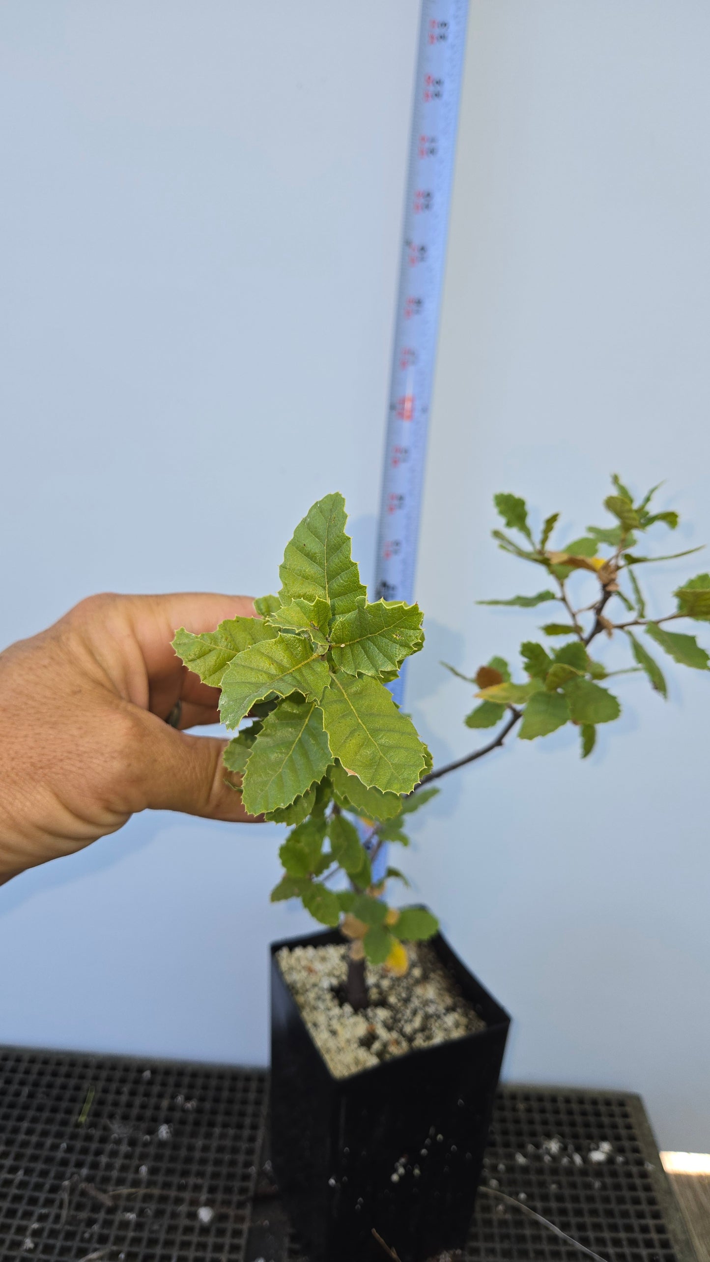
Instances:
[[[332,764],[323,713],[314,700],[289,698],[264,719],[242,781],[251,815],[290,806]],[[315,796],[315,794],[314,794]]]

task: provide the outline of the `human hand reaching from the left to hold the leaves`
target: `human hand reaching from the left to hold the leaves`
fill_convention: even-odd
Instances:
[[[219,690],[175,656],[175,628],[252,616],[246,596],[92,596],[0,654],[0,883],[72,854],[134,811],[252,820],[222,765]]]

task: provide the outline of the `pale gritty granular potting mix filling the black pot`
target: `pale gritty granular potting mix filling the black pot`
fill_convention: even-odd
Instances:
[[[366,964],[371,1002],[362,1012],[342,1002],[346,944],[279,952],[286,984],[335,1078],[486,1029],[431,946],[411,944],[407,952],[411,967],[405,977],[393,977],[382,964]]]

